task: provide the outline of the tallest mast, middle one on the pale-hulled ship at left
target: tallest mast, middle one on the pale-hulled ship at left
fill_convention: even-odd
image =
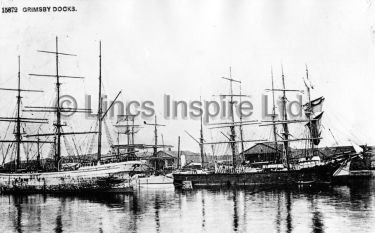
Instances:
[[[58,167],[58,163],[61,158],[61,109],[60,109],[60,77],[59,77],[59,50],[58,50],[58,38],[56,36],[56,136],[57,136],[57,150],[55,150],[55,165]]]

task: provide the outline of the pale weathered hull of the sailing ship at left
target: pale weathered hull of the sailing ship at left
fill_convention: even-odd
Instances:
[[[74,171],[0,173],[2,193],[131,192],[133,162],[83,167]]]

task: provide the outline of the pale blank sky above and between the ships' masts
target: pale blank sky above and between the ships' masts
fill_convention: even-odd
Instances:
[[[37,50],[53,50],[58,36],[60,51],[78,55],[61,58],[60,73],[85,77],[65,79],[62,93],[74,96],[79,106],[85,95],[92,95],[96,111],[102,41],[104,93],[113,99],[122,90],[121,101],[153,101],[159,122],[166,125],[159,131],[164,144],[177,146],[181,136],[183,150],[198,151],[184,131],[198,138],[200,125],[197,119],[164,119],[164,95],[184,101],[217,99],[213,95],[229,91],[220,77],[228,76],[231,67],[233,78],[242,81],[242,93],[251,95],[250,119],[262,120],[261,96],[270,88],[271,69],[277,88],[283,66],[287,88],[304,89],[305,65],[314,86],[312,98],[326,98],[321,145],[350,145],[349,140],[375,144],[372,1],[0,0],[0,5],[18,7],[17,13],[0,14],[0,86],[15,87],[20,55],[23,87],[44,90],[25,94],[24,106],[52,103],[54,80],[28,74],[54,74],[53,55]],[[35,6],[74,6],[77,11],[22,12]],[[234,90],[238,93],[238,85]],[[1,92],[0,107],[2,116],[11,115],[14,93]],[[73,118],[71,130],[92,125],[83,116]],[[109,125],[116,121],[108,120]],[[6,127],[1,123],[2,132]],[[247,139],[270,135],[269,128],[244,130]],[[223,140],[219,137],[205,130],[207,141]],[[152,144],[152,129],[142,128],[136,142]]]

